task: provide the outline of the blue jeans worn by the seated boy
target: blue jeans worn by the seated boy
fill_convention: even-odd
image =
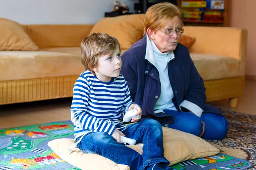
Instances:
[[[135,139],[137,143],[143,142],[143,155],[102,132],[88,133],[78,147],[85,153],[96,153],[118,164],[128,165],[131,170],[144,170],[145,167],[157,163],[162,163],[163,167],[170,164],[163,156],[163,130],[156,120],[146,119],[128,125],[122,133],[125,137]]]

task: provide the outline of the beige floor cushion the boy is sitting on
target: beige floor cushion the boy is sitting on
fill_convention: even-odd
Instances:
[[[48,145],[59,157],[82,170],[130,170],[130,167],[126,165],[116,164],[97,154],[86,154],[77,147],[71,154],[68,154],[68,147],[73,143],[75,143],[73,139],[55,139],[48,142]],[[170,165],[219,153],[216,147],[203,139],[168,127],[163,127],[163,145],[164,155],[171,162]],[[143,144],[128,145],[128,147],[140,154],[143,153]]]

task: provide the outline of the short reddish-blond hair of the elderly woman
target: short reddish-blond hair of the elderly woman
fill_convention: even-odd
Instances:
[[[172,3],[157,3],[149,7],[144,19],[144,34],[147,33],[148,28],[152,31],[162,28],[175,16],[180,18],[180,24],[183,26],[180,9]]]

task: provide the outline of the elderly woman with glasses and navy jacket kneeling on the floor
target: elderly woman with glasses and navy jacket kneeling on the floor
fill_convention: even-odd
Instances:
[[[204,139],[224,139],[228,123],[223,114],[206,104],[204,81],[178,43],[183,29],[181,13],[172,3],[148,8],[145,36],[122,54],[121,74],[131,99],[142,108],[143,119],[192,133]]]

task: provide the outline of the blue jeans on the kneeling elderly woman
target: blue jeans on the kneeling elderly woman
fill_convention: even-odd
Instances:
[[[205,124],[203,139],[221,140],[227,135],[229,126],[224,116],[215,113],[203,113],[201,117],[198,117],[190,112],[163,111],[174,117],[174,123],[167,125],[167,127],[200,136],[203,130],[202,120]]]

